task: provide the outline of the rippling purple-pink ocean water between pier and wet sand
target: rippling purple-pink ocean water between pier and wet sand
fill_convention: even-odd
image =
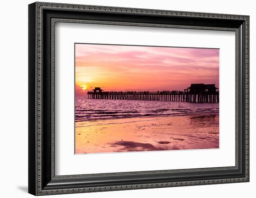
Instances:
[[[219,103],[75,98],[75,121],[218,114]]]

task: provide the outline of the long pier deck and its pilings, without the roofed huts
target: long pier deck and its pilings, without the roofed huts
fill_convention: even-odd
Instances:
[[[219,92],[189,93],[182,91],[166,92],[88,92],[88,99],[152,100],[198,103],[218,103]]]

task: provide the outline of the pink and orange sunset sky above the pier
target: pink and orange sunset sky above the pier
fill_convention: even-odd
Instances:
[[[219,49],[75,44],[75,92],[219,88]]]

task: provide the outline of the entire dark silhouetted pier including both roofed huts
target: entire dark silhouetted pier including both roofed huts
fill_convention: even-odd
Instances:
[[[119,99],[119,100],[152,100],[152,101],[179,101],[198,103],[218,103],[219,92],[215,85],[191,84],[184,91],[158,91],[158,92],[103,92],[100,87],[95,87],[88,92],[88,99]]]

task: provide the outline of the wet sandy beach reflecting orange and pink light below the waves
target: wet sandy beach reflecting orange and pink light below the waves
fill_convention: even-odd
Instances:
[[[75,154],[219,148],[219,115],[81,121]]]

